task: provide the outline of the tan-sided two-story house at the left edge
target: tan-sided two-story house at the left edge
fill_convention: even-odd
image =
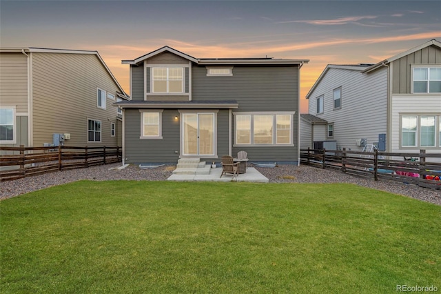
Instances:
[[[121,146],[121,99],[96,51],[0,49],[0,146]]]

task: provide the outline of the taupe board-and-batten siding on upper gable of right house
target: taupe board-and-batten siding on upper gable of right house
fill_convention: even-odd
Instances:
[[[441,63],[441,49],[436,46],[422,48],[421,50],[417,50],[416,52],[392,61],[392,93],[411,93],[411,65],[435,63]]]

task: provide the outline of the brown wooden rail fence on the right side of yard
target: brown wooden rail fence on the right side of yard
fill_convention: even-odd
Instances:
[[[300,149],[300,163],[343,173],[441,189],[441,153]]]

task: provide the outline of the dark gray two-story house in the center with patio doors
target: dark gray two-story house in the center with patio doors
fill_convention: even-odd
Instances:
[[[196,59],[163,47],[130,65],[123,109],[125,163],[297,162],[300,68],[305,59]]]

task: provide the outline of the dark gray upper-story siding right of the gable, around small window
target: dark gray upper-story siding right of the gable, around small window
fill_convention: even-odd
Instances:
[[[297,111],[296,66],[235,66],[232,77],[207,77],[192,67],[192,101],[236,100],[237,111]]]

